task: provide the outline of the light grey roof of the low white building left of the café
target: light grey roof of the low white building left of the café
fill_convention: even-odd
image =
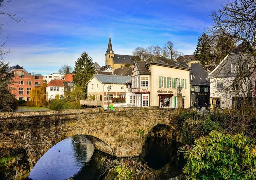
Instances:
[[[127,81],[132,79],[132,77],[130,76],[123,76],[123,75],[94,74],[93,77],[99,80],[101,83],[106,83],[106,84],[126,84]]]

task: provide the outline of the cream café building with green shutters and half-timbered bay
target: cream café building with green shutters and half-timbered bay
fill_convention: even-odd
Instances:
[[[134,62],[132,92],[135,106],[190,107],[190,68],[173,60],[152,56]]]

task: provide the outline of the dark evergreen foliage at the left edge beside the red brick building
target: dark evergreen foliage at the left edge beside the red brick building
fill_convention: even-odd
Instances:
[[[15,109],[17,108],[17,100],[10,92],[14,89],[10,88],[14,83],[14,73],[9,73],[7,71],[8,68],[9,63],[5,64],[1,61],[0,58],[0,111],[10,112],[15,111]]]

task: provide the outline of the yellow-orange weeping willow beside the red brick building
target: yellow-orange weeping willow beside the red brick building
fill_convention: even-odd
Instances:
[[[46,103],[46,84],[31,89],[31,102],[33,106],[44,106]]]

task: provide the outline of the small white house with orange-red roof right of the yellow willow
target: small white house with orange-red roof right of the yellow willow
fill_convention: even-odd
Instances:
[[[62,80],[51,80],[46,85],[46,100],[56,99],[56,95],[64,97],[64,84]]]

